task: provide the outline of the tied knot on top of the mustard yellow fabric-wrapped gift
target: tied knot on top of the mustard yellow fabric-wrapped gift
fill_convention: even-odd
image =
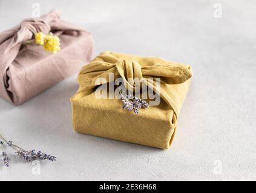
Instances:
[[[78,81],[84,89],[99,86],[97,78],[105,78],[114,74],[114,80],[122,77],[129,86],[134,87],[134,78],[147,81],[148,78],[160,78],[161,83],[180,84],[192,77],[188,65],[166,62],[158,58],[143,58],[135,55],[102,52],[90,64],[85,65],[78,76]]]

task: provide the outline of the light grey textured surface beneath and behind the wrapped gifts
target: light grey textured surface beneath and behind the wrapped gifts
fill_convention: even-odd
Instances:
[[[71,126],[76,76],[20,107],[0,100],[0,130],[27,148],[57,156],[33,165],[11,156],[0,180],[256,180],[255,1],[0,1],[0,31],[53,8],[90,31],[101,51],[162,57],[194,77],[169,150],[86,134]],[[213,16],[220,2],[222,18]],[[96,117],[97,119],[97,117]],[[160,129],[160,128],[159,128]],[[8,151],[9,152],[9,151]],[[214,174],[220,160],[222,174]]]

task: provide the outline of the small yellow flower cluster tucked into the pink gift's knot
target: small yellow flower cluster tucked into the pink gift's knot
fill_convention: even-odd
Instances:
[[[61,50],[59,37],[54,36],[52,33],[45,35],[39,32],[36,34],[35,39],[36,43],[44,45],[44,49],[48,52],[56,53]]]

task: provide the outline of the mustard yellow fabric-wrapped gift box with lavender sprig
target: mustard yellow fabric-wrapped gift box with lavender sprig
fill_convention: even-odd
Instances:
[[[123,110],[118,98],[95,95],[99,78],[110,82],[122,77],[125,86],[133,87],[129,78],[142,78],[148,88],[160,92],[160,104],[140,109],[139,114]],[[149,78],[160,78],[160,86]],[[73,127],[79,133],[157,148],[169,148],[177,127],[177,118],[192,77],[188,65],[158,58],[145,58],[116,52],[102,52],[85,65],[78,76],[79,90],[71,98]]]

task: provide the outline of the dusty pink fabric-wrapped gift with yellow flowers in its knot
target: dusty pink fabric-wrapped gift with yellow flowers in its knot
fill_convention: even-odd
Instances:
[[[41,45],[26,43],[40,31],[58,36],[61,51],[53,54]],[[15,105],[22,104],[78,72],[91,60],[92,53],[91,34],[62,21],[58,10],[27,19],[0,33],[0,96]]]

